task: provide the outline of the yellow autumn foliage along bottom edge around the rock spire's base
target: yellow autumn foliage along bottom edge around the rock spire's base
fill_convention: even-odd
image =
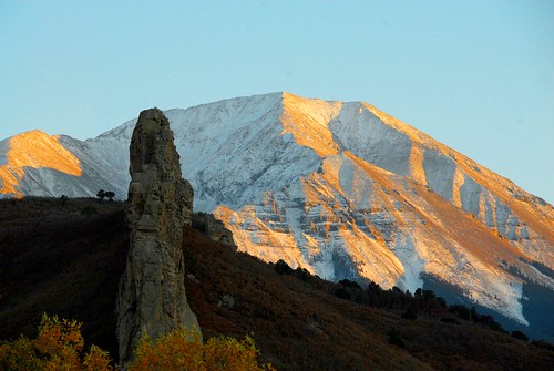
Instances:
[[[0,371],[114,371],[107,352],[92,346],[84,352],[81,324],[42,316],[35,339],[21,337],[0,343]],[[185,329],[174,330],[153,342],[143,336],[129,371],[275,371],[258,365],[254,340],[212,338],[202,343]]]

